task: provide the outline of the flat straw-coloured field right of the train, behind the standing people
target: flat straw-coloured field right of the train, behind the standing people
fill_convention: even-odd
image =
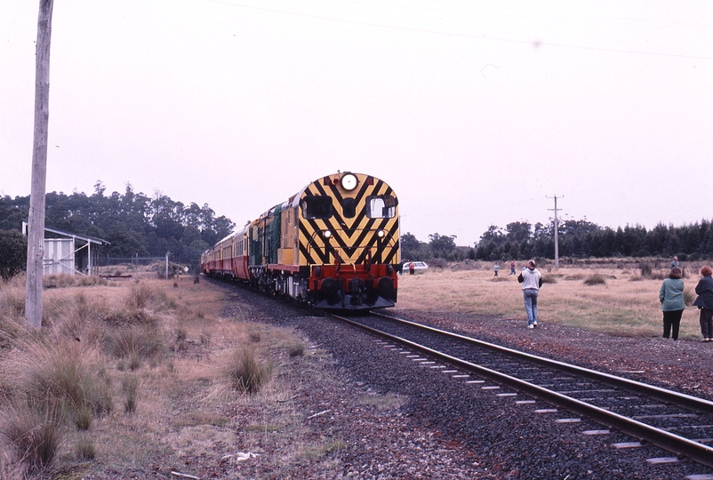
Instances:
[[[697,267],[688,268],[697,271]],[[648,273],[648,272],[647,272]],[[559,268],[545,274],[561,278],[543,284],[539,316],[544,322],[580,327],[617,336],[661,335],[659,302],[661,280],[641,276],[632,268]],[[586,285],[591,278],[604,284]],[[402,276],[397,308],[423,311],[457,311],[522,318],[525,321],[521,285],[515,276],[493,281],[489,269],[429,269],[420,276]],[[695,298],[698,277],[685,280],[687,300]],[[598,280],[597,280],[598,282]],[[686,308],[681,321],[681,338],[700,338],[698,309]]]

